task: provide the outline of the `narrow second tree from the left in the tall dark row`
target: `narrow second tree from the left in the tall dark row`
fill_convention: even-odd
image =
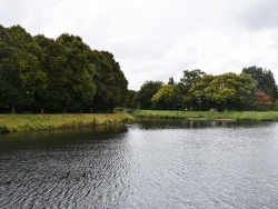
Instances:
[[[40,34],[36,41],[43,52],[42,66],[48,78],[48,87],[44,92],[37,94],[37,106],[49,109],[62,109],[70,101],[70,91],[66,88],[69,77],[67,69],[67,49],[53,39]]]

